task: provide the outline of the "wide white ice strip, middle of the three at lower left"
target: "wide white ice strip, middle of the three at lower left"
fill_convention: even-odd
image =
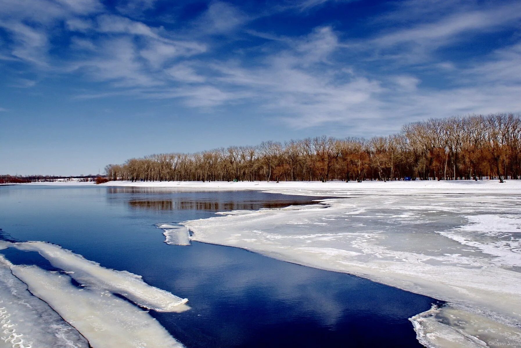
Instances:
[[[11,270],[36,297],[76,327],[93,348],[183,346],[146,311],[110,292],[78,288],[68,275],[36,266],[11,266]]]

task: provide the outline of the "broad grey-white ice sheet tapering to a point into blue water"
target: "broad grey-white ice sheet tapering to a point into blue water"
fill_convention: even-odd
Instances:
[[[344,192],[354,198],[317,204],[327,205],[326,209],[263,209],[182,224],[192,231],[192,240],[244,248],[425,294],[461,305],[458,315],[472,318],[477,326],[489,318],[512,326],[517,334],[521,234],[516,226],[521,197],[493,193]],[[461,327],[454,334],[473,336],[471,331]],[[432,337],[427,333],[425,337]]]

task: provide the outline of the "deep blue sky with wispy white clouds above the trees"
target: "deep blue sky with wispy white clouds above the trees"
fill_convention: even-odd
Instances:
[[[0,0],[0,174],[519,111],[519,1]]]

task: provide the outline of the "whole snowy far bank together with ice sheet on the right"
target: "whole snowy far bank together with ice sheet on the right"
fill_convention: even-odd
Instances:
[[[183,225],[193,232],[192,240],[351,273],[451,302],[412,318],[423,344],[521,344],[519,181],[105,185],[350,197],[237,211]]]

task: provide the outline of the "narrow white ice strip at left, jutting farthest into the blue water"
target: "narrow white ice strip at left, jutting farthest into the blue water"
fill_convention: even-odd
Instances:
[[[71,277],[80,284],[118,293],[141,307],[158,312],[183,312],[189,309],[185,304],[188,299],[148,285],[139,275],[102,267],[54,244],[37,241],[10,243],[10,246],[19,250],[37,251],[53,266],[71,272]]]

